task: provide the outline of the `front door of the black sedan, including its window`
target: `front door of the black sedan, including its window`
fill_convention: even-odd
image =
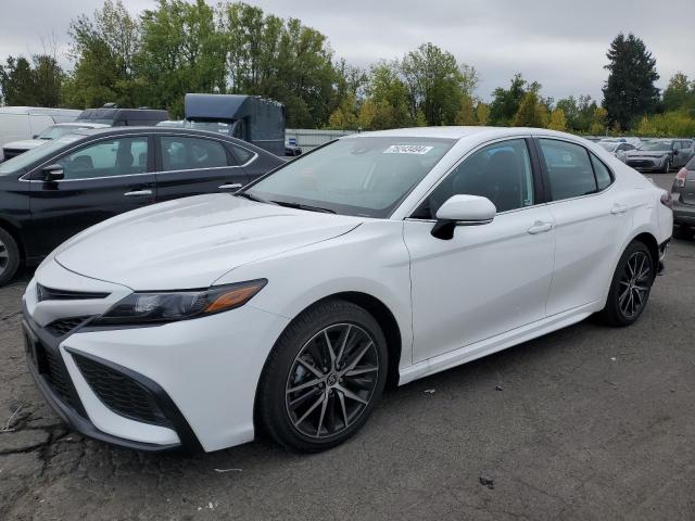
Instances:
[[[51,160],[64,179],[31,179],[31,232],[27,249],[42,256],[75,233],[156,200],[152,138],[143,135],[100,139]],[[45,166],[45,165],[43,165]]]

